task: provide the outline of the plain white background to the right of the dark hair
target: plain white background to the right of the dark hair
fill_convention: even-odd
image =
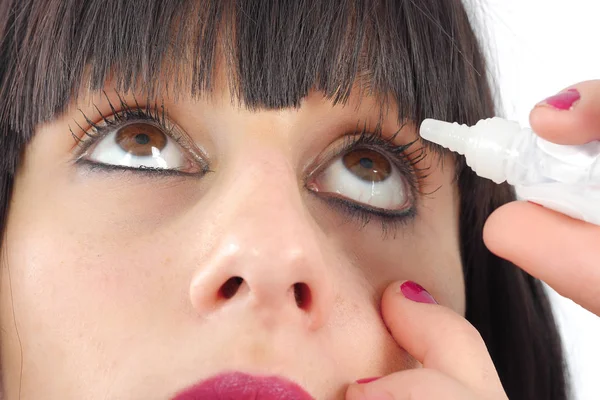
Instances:
[[[529,126],[529,111],[537,102],[574,83],[600,79],[600,0],[470,2],[483,8],[487,43],[492,44],[487,51],[495,58],[491,70],[498,77],[506,117]],[[598,400],[600,318],[556,293],[551,297],[574,398]]]

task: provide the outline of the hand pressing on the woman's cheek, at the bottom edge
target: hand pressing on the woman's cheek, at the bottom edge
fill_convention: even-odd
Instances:
[[[381,311],[396,342],[423,368],[352,384],[346,400],[506,400],[479,332],[424,289],[412,282],[390,285]]]

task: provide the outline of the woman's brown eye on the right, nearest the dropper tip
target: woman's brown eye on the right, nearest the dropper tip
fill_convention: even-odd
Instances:
[[[338,156],[310,185],[316,192],[375,209],[403,212],[412,206],[398,167],[373,149],[353,149]]]

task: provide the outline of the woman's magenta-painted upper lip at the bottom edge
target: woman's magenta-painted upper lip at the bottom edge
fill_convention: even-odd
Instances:
[[[232,372],[182,390],[172,400],[315,400],[294,382],[277,376]]]

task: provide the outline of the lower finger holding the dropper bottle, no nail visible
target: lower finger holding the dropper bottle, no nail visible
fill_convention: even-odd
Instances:
[[[514,202],[488,218],[483,239],[494,254],[600,315],[600,228],[541,206]]]

